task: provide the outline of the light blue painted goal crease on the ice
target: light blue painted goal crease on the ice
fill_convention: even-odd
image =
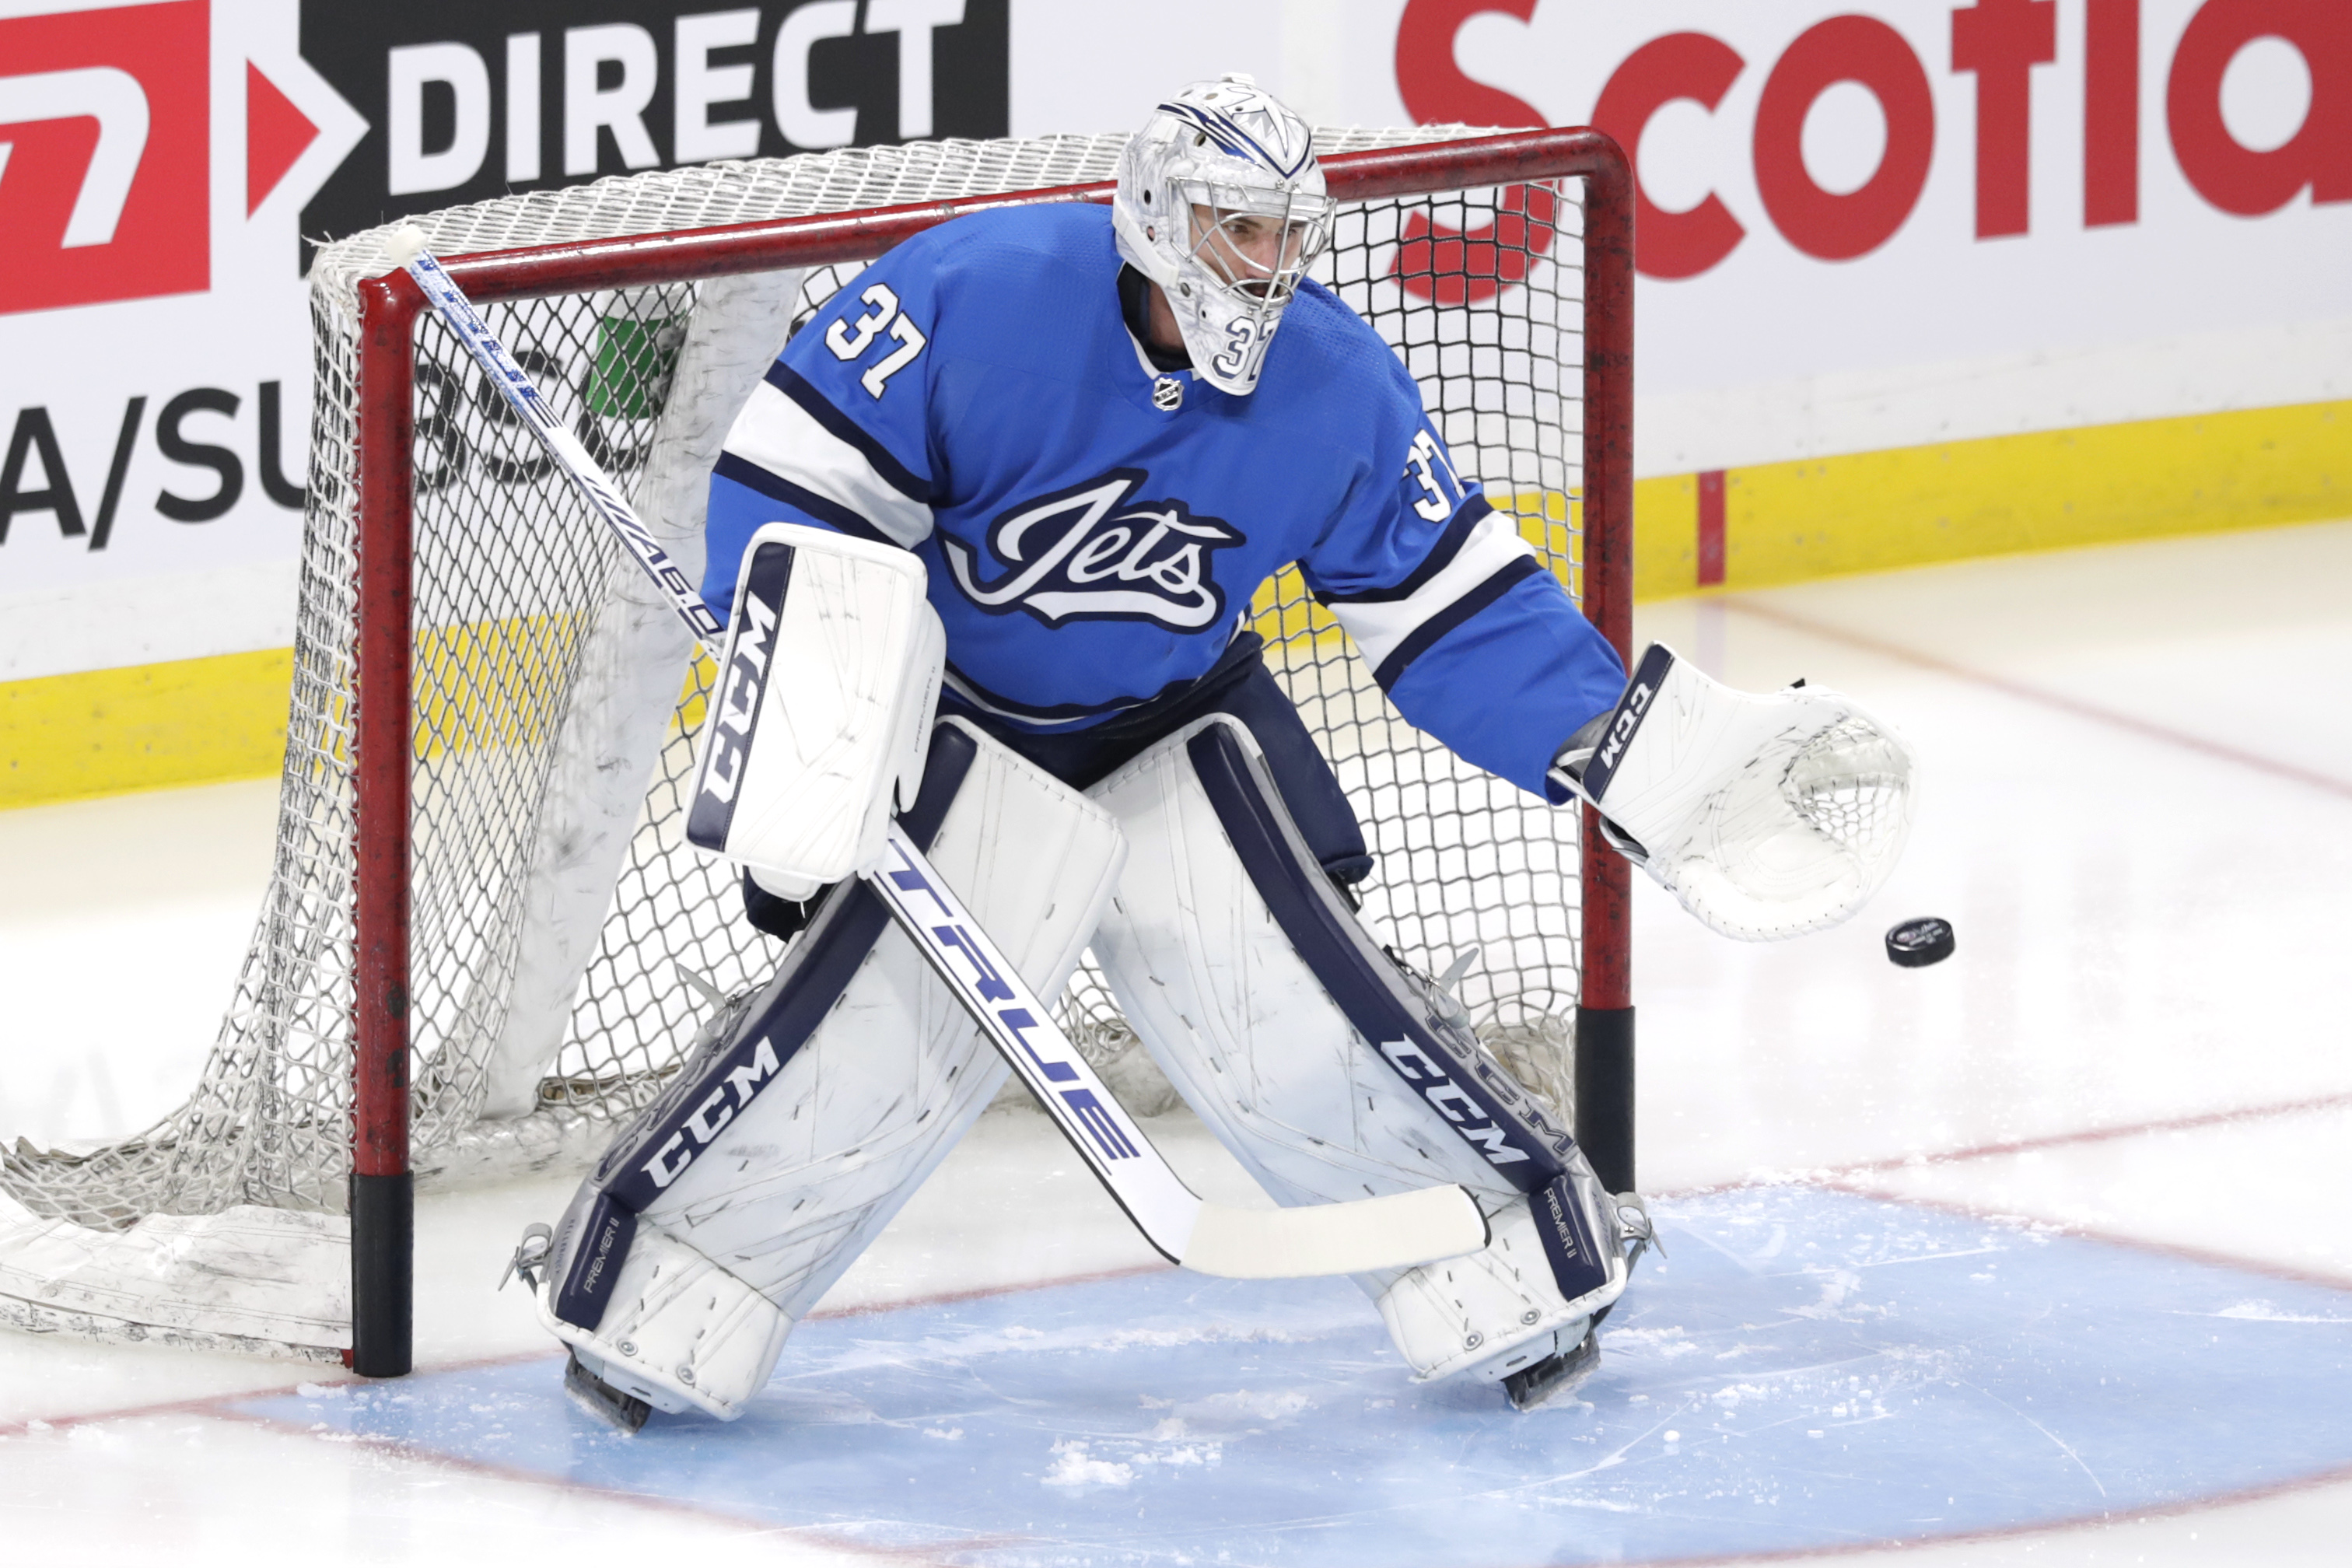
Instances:
[[[1529,1415],[1414,1387],[1341,1281],[1181,1272],[811,1321],[731,1427],[623,1439],[553,1359],[233,1408],[985,1568],[1802,1552],[2352,1462],[2340,1288],[1811,1187],[1661,1222],[1599,1373]]]

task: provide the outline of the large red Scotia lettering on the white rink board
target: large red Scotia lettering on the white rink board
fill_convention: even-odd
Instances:
[[[2143,188],[2161,174],[2154,165],[2164,153],[2197,200],[2232,216],[2267,216],[2305,193],[2317,207],[2352,202],[2352,0],[1877,0],[1860,7],[1882,14],[1860,14],[1839,0],[1790,0],[1717,5],[1715,31],[1668,31],[1668,16],[1689,19],[1700,9],[1708,7],[1559,0],[1545,14],[1557,26],[1581,12],[1571,24],[1578,87],[1592,75],[1590,61],[1616,56],[1597,94],[1588,99],[1576,87],[1559,87],[1550,108],[1555,122],[1597,125],[1635,158],[1646,277],[1712,273],[1766,226],[1813,261],[1870,256],[1915,221],[1938,167],[1938,139],[1955,134],[1969,141],[1945,179],[1973,183],[1976,240],[2030,235],[2034,179],[2051,179],[2060,172],[2051,165],[2060,162],[2074,165],[2065,174],[2079,183],[2074,226],[2082,230],[2140,223]],[[1536,24],[1538,0],[1404,0],[1395,68],[1397,94],[1414,120],[1545,122],[1524,99],[1461,66],[1456,49],[1465,28],[1489,16]],[[1792,21],[1802,31],[1788,38]],[[1623,40],[1644,33],[1651,35],[1623,49]],[[2230,125],[2232,96],[2244,108],[2244,99],[2263,94],[2225,92],[2241,56],[2265,47],[2296,61],[2286,75],[2288,96],[2293,75],[2303,75],[2303,108],[2288,115],[2291,134],[2277,143],[2260,134],[2249,141]],[[2246,80],[2281,80],[2277,71],[2263,75],[2274,59],[2246,63],[2256,68]],[[2060,73],[2072,80],[2051,80]],[[2037,87],[2049,99],[2039,122]],[[1844,139],[1877,141],[1877,155],[1865,179],[1825,186],[1811,153],[1835,136],[1816,136],[1809,122],[1825,96],[1844,89],[1867,94],[1877,120],[1875,134]],[[2060,101],[2060,92],[2072,101]],[[2161,113],[2143,113],[2143,99]],[[2053,113],[2060,108],[2072,113]],[[1661,113],[1675,110],[1693,113],[1682,115],[1661,160],[1644,150],[1644,134]],[[1745,150],[1748,169],[1729,188],[1700,186],[1698,200],[1661,205],[1651,200],[1653,179],[1663,172],[1668,183],[1686,183],[1677,179],[1684,169],[1672,165],[1703,160],[1703,139],[1689,134],[1696,115],[1712,122],[1712,141]],[[2044,214],[2044,228],[2051,216]],[[1510,249],[1496,252],[1496,240],[1510,247],[1524,235],[1541,252],[1548,219],[1541,190],[1526,202],[1515,193],[1496,223],[1468,235],[1414,219],[1399,273],[1411,287],[1411,273],[1428,266],[1411,247],[1425,249],[1435,237],[1439,266],[1449,244],[1468,247],[1470,299],[1494,294],[1510,277],[1489,277],[1515,261]],[[1458,282],[1451,287],[1461,292]],[[1439,296],[1439,303],[1461,301]]]

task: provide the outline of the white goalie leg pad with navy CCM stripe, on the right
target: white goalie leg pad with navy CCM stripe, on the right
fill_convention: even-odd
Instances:
[[[1428,1269],[1359,1281],[1376,1300],[1406,1286],[1390,1326],[1416,1373],[1522,1342],[1548,1352],[1559,1328],[1616,1300],[1616,1213],[1576,1143],[1364,931],[1247,726],[1190,724],[1094,795],[1131,846],[1094,952],[1145,1048],[1235,1159],[1279,1204],[1461,1182],[1486,1208],[1496,1241],[1432,1265],[1456,1286],[1409,1284]],[[1425,1309],[1423,1293],[1435,1293]]]

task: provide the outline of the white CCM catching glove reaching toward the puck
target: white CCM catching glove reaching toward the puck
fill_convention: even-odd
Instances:
[[[1552,780],[1684,910],[1745,943],[1860,910],[1903,858],[1917,759],[1853,698],[1731,691],[1649,644]]]

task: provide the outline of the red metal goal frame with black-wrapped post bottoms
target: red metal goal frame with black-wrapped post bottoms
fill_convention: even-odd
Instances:
[[[1515,132],[1465,141],[1334,153],[1334,200],[1585,181],[1583,200],[1583,609],[1630,658],[1632,637],[1632,174],[1595,129]],[[442,256],[482,306],[597,289],[644,289],[741,273],[863,263],[934,223],[995,207],[1108,202],[1110,183],[974,195],[870,212],[774,219],[682,233],[534,244]],[[1435,270],[1477,277],[1475,237],[1430,240]],[[1449,252],[1449,247],[1454,247]],[[1494,247],[1484,261],[1491,268]],[[367,1375],[409,1368],[409,863],[412,520],[416,515],[416,322],[423,296],[405,273],[360,282],[358,320],[358,639],[353,726],[353,1349]],[[1632,997],[1628,865],[1585,809],[1581,837],[1581,966],[1576,1009],[1576,1135],[1613,1192],[1632,1187]]]

